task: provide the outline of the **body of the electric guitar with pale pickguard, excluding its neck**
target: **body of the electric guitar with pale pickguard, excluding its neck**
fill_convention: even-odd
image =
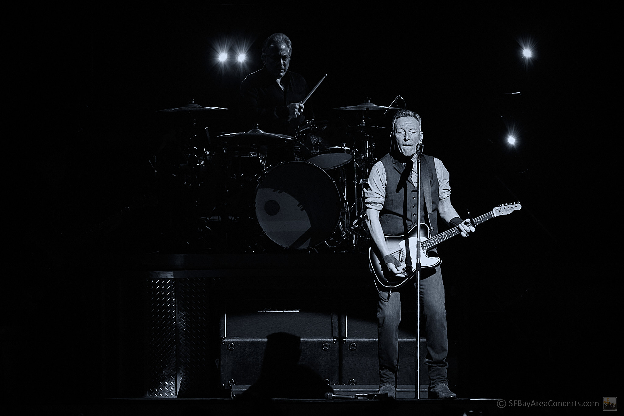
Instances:
[[[421,244],[427,241],[430,237],[429,226],[426,224],[421,224]],[[407,272],[407,248],[409,248],[409,254],[411,256],[411,271],[412,273],[406,274],[405,277],[397,277],[396,274],[390,273],[388,269],[386,269],[385,264],[383,263],[383,258],[381,258],[381,254],[379,253],[378,248],[371,247],[368,250],[368,259],[371,265],[371,269],[375,274],[378,282],[386,287],[386,288],[398,288],[402,284],[407,283],[409,279],[416,273],[416,255],[417,255],[417,247],[416,243],[416,226],[409,230],[407,233],[407,239],[405,236],[386,236],[386,246],[390,253],[401,262],[401,266],[404,271]],[[406,241],[407,240],[407,241]],[[432,268],[436,267],[438,264],[442,263],[442,260],[439,257],[429,257],[427,253],[421,249],[421,268]]]

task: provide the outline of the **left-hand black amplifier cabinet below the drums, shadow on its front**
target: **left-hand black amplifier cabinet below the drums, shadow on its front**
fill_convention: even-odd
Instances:
[[[278,332],[300,337],[298,346],[293,347],[300,350],[296,351],[298,364],[316,372],[327,384],[338,384],[338,317],[331,300],[227,299],[223,309],[219,360],[223,389],[258,380],[267,336]]]

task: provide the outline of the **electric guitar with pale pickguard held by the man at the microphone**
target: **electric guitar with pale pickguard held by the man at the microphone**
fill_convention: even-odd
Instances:
[[[490,211],[487,214],[474,218],[474,225],[477,226],[481,223],[484,223],[491,218],[499,215],[507,215],[512,213],[515,210],[520,210],[522,206],[520,203],[515,204],[505,204],[499,205],[494,210]],[[406,283],[416,274],[416,254],[417,254],[417,243],[416,243],[416,226],[414,226],[406,236],[386,236],[386,246],[390,250],[390,254],[397,258],[401,262],[401,266],[404,270],[406,270],[406,261],[407,261],[407,248],[409,248],[409,254],[411,256],[411,272],[406,273],[404,277],[396,276],[396,274],[391,273],[386,269],[386,265],[383,263],[383,258],[379,253],[379,250],[374,246],[368,249],[368,259],[371,265],[371,269],[375,275],[375,278],[383,286],[384,288],[395,289]],[[431,231],[429,230],[429,226],[426,224],[421,224],[421,268],[432,268],[436,267],[438,264],[442,263],[442,260],[439,257],[429,257],[427,255],[427,251],[431,250],[438,244],[446,241],[447,239],[454,237],[456,235],[461,234],[459,227],[453,227],[451,230],[444,231],[444,233],[439,233],[433,237],[430,237],[429,234]]]

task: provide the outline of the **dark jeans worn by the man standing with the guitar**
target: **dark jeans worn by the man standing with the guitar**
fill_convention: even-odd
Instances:
[[[414,287],[416,283],[414,283]],[[379,347],[380,385],[396,385],[399,368],[399,322],[401,322],[401,291],[388,292],[380,289],[377,306],[377,331]],[[407,295],[407,291],[404,294]],[[446,309],[444,309],[444,284],[440,267],[423,269],[421,273],[421,311],[427,339],[429,386],[448,384],[446,354],[449,342],[446,336]]]

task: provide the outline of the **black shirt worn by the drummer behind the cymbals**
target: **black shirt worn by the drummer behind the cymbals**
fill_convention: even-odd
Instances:
[[[253,72],[240,85],[239,111],[243,130],[258,128],[267,133],[295,136],[296,127],[305,120],[314,118],[311,107],[306,104],[303,114],[288,122],[288,104],[301,102],[310,90],[308,83],[299,74],[286,71],[280,88],[276,79],[263,68]]]

